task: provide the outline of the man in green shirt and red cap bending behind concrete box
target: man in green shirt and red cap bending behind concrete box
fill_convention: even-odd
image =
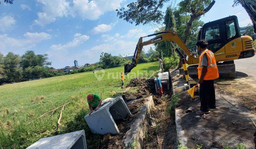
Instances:
[[[91,115],[93,110],[98,110],[101,106],[101,98],[98,94],[89,94],[87,95],[87,103],[89,105],[89,108],[91,112],[89,115]]]

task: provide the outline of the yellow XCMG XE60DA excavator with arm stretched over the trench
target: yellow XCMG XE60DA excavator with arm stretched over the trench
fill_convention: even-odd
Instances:
[[[156,36],[145,42],[142,38]],[[186,57],[176,48],[177,53],[186,59],[189,75],[197,75],[197,67],[199,63],[198,53],[193,53],[188,49],[186,44],[181,40],[179,34],[172,30],[165,30],[160,33],[151,34],[145,37],[140,37],[136,46],[132,63],[124,66],[124,73],[128,74],[134,67],[137,66],[140,53],[143,46],[154,44],[162,41],[175,42],[180,49],[186,53]],[[215,55],[215,60],[218,62],[217,67],[220,75],[226,77],[235,77],[234,60],[249,58],[255,55],[253,40],[248,35],[240,34],[238,19],[236,16],[225,17],[216,21],[208,22],[203,25],[198,32],[198,40],[205,39],[208,42],[208,49]],[[180,69],[180,74],[184,75],[183,69]]]

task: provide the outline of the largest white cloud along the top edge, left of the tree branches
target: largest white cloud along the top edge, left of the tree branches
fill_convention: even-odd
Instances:
[[[123,0],[37,0],[43,4],[42,12],[38,12],[38,18],[34,24],[45,26],[54,22],[58,17],[80,16],[83,19],[97,20],[107,11],[113,11],[120,7]]]

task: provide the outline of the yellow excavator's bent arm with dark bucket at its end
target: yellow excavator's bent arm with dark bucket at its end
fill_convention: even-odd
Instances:
[[[132,63],[126,64],[124,66],[124,74],[128,74],[134,67],[137,66],[139,58],[140,58],[140,53],[142,52],[144,45],[154,44],[154,43],[158,43],[161,41],[170,41],[170,42],[173,41],[178,46],[180,46],[180,48],[188,55],[188,60],[187,60],[188,65],[191,65],[193,62],[198,63],[198,58],[193,56],[192,52],[187,48],[186,44],[183,43],[183,41],[181,40],[181,38],[177,32],[172,31],[172,30],[165,30],[163,32],[151,34],[151,35],[148,35],[145,37],[150,37],[150,36],[155,36],[155,35],[158,35],[158,36],[154,37],[150,40],[147,40],[145,42],[142,41],[142,38],[144,38],[144,37],[139,38],[138,44],[136,46],[136,49],[135,49],[135,52],[133,55]]]

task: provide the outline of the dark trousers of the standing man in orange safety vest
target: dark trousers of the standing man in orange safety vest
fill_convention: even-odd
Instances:
[[[202,84],[200,84],[199,88],[199,97],[201,101],[200,110],[203,112],[208,112],[209,107],[215,108],[215,89],[214,89],[214,81],[213,80],[204,80]]]

